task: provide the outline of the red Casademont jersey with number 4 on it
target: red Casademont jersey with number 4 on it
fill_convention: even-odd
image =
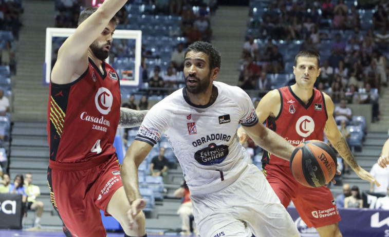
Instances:
[[[89,59],[88,69],[68,84],[50,83],[47,134],[50,160],[101,163],[112,157],[120,117],[119,77],[102,62],[102,74]],[[100,160],[96,160],[96,158]]]

